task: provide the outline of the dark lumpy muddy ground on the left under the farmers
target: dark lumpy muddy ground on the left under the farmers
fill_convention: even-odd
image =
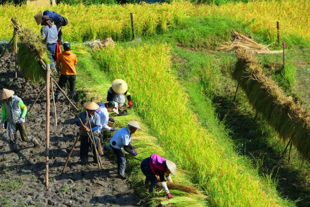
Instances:
[[[6,53],[0,59],[0,84],[14,90],[30,109],[38,95],[40,85],[24,84],[22,75],[15,79],[14,56]],[[55,89],[54,89],[55,90]],[[45,92],[44,92],[45,93]],[[19,152],[14,153],[5,129],[0,129],[0,206],[140,206],[140,200],[132,189],[117,178],[117,165],[108,157],[102,157],[104,170],[99,171],[93,163],[82,166],[79,160],[79,142],[66,168],[61,174],[67,151],[75,140],[78,112],[61,96],[56,104],[58,126],[55,127],[54,109],[51,102],[49,190],[45,190],[45,136],[46,98],[41,95],[31,113],[26,116],[29,136],[38,139],[40,147],[22,142]],[[18,136],[19,133],[17,132]]]

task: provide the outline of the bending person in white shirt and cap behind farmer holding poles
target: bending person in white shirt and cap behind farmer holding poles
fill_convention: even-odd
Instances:
[[[114,101],[108,101],[108,102],[99,102],[99,109],[96,111],[96,113],[99,114],[100,116],[100,121],[101,121],[101,134],[103,135],[104,140],[107,140],[109,131],[115,131],[115,128],[111,128],[108,126],[109,122],[109,111],[114,111],[116,114],[118,114],[118,109],[117,109],[117,103]]]

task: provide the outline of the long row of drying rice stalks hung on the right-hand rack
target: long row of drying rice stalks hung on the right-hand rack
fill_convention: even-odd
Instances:
[[[280,139],[292,139],[300,155],[310,160],[310,114],[285,96],[277,83],[264,76],[262,65],[245,50],[237,51],[238,61],[233,79],[248,96],[254,109],[262,113]]]

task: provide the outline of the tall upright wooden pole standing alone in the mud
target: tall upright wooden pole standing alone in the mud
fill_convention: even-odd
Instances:
[[[49,80],[50,80],[50,66],[47,64],[47,131],[46,131],[46,167],[45,167],[45,180],[46,189],[48,189],[48,156],[49,156],[49,112],[50,112],[50,101],[49,101]]]

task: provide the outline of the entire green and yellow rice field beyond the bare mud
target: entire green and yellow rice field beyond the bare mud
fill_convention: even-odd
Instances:
[[[0,6],[0,39],[10,39],[10,18],[39,32],[33,16],[47,8]],[[304,79],[310,80],[310,0],[268,0],[227,4],[64,5],[49,8],[69,19],[64,40],[74,42],[78,55],[77,87],[85,100],[104,100],[109,84],[124,79],[134,109],[117,117],[118,127],[138,119],[145,130],[133,145],[138,159],[128,156],[130,182],[149,206],[309,206],[310,164],[293,147],[291,162],[282,157],[286,142],[256,114],[248,97],[232,78],[236,57],[217,51],[230,41],[231,31],[244,33],[259,43],[280,49],[287,42],[287,67],[281,55],[260,55],[269,79],[309,111]],[[135,35],[131,40],[130,16]],[[83,42],[112,37],[116,47],[92,51]],[[308,68],[308,70],[307,70]],[[303,84],[303,85],[302,85]],[[280,121],[279,121],[280,122]],[[277,124],[279,124],[279,122]],[[289,133],[288,133],[289,134]],[[305,139],[309,139],[305,137]],[[307,151],[307,149],[304,149]],[[175,179],[198,193],[162,191],[150,196],[141,188],[140,160],[158,153],[177,163]],[[304,152],[307,154],[307,152]],[[279,161],[280,160],[280,161]]]

